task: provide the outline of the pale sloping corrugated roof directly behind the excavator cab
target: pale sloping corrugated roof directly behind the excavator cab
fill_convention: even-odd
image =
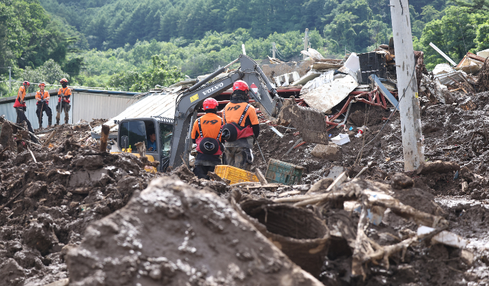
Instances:
[[[110,131],[117,131],[118,124],[114,120],[123,120],[126,118],[150,118],[152,116],[162,116],[166,118],[175,117],[175,104],[178,93],[156,93],[147,94],[138,102],[127,107],[125,111],[114,118],[111,118],[104,124],[110,126]],[[97,126],[94,132],[100,132],[102,126]]]

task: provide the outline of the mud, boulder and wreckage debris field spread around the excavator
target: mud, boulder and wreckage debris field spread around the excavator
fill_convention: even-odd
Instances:
[[[430,73],[415,53],[426,162],[404,172],[393,47],[311,56],[267,67],[283,88],[300,67],[295,96],[317,98],[286,100],[287,124],[260,117],[273,127],[257,138],[263,157],[253,148],[260,182],[198,179],[185,164],[147,173],[90,137],[105,120],[38,131],[41,145],[3,122],[0,285],[487,285],[487,63]],[[373,66],[386,81],[366,57],[383,59]],[[345,79],[331,102],[337,89],[322,89]],[[301,109],[329,129],[298,133]],[[348,142],[316,144],[313,133]],[[271,159],[300,166],[302,179],[267,181]]]

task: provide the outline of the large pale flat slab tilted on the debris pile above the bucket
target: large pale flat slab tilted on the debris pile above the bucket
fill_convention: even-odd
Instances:
[[[357,80],[348,75],[344,78],[338,78],[331,83],[324,83],[307,94],[300,96],[304,101],[314,109],[322,112],[329,112],[335,105],[340,103],[348,94],[358,86]]]

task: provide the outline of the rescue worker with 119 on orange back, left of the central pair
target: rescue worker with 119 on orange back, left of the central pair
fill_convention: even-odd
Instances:
[[[222,118],[218,116],[218,102],[214,98],[207,98],[202,104],[205,115],[194,122],[191,137],[197,144],[197,156],[194,174],[199,179],[209,179],[207,173],[214,172],[221,164],[220,155],[222,146],[220,142]]]

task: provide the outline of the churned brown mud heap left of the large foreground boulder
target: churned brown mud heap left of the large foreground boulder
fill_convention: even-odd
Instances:
[[[79,144],[88,126],[58,128],[51,148],[24,143],[20,153],[2,154],[0,285],[67,278],[65,246],[80,243],[87,225],[125,206],[154,177],[134,155]]]

